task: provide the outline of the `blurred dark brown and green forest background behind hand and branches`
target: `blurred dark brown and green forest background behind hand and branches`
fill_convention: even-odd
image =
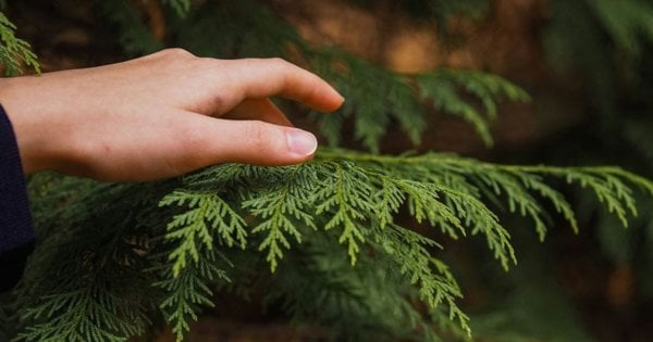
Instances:
[[[180,38],[182,25],[173,11],[156,1],[122,2],[133,17],[107,4],[115,1],[3,2],[42,72],[118,62],[172,41],[211,54],[193,49],[193,37],[202,34],[215,34],[209,38],[217,45],[231,41],[202,31],[199,22],[183,31],[190,38]],[[651,1],[245,2],[270,9],[312,45],[340,47],[373,65],[397,73],[482,71],[529,94],[501,105],[491,147],[473,125],[432,110],[418,145],[391,125],[380,139],[383,153],[445,151],[505,164],[619,165],[653,177]],[[143,23],[143,30],[125,30],[132,20]],[[274,54],[262,50],[247,51],[249,56]],[[320,131],[303,109],[285,109],[298,126]],[[366,149],[354,130],[345,123],[341,143]],[[446,241],[445,257],[456,265],[465,293],[460,305],[481,341],[650,341],[653,335],[651,200],[639,199],[640,215],[624,229],[587,195],[566,191],[578,212],[579,232],[557,218],[543,242],[532,229],[512,230],[520,262],[509,273],[475,244]],[[274,309],[262,315],[256,300],[220,301],[194,326],[192,341],[320,339],[310,327],[291,329]]]

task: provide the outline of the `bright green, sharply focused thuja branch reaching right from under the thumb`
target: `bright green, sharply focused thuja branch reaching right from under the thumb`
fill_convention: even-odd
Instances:
[[[547,178],[560,178],[591,190],[625,225],[629,215],[637,215],[631,187],[653,195],[651,181],[616,167],[500,165],[454,154],[389,156],[333,149],[322,149],[313,161],[295,166],[213,166],[186,177],[175,193],[187,193],[189,204],[195,203],[190,201],[194,197],[199,201],[215,195],[221,205],[233,208],[239,217],[248,217],[241,223],[252,235],[243,237],[254,240],[258,252],[267,253],[272,271],[286,252],[298,244],[313,243],[311,239],[317,237],[335,239],[353,265],[364,251],[366,257],[370,257],[370,251],[377,257],[384,255],[384,259],[401,265],[399,274],[419,289],[424,303],[431,307],[446,305],[452,318],[467,330],[468,318],[455,302],[461,296],[459,288],[448,268],[432,255],[433,249],[443,244],[411,231],[406,226],[409,223],[398,219],[399,210],[406,207],[416,221],[429,224],[441,236],[483,236],[495,258],[507,269],[517,258],[508,227],[500,220],[498,210],[486,204],[491,199],[504,201],[509,213],[530,218],[542,239],[546,233],[545,201],[578,229],[571,205],[546,183]],[[184,211],[196,211],[185,203],[176,203],[187,208],[182,208],[173,223],[185,217]],[[185,220],[193,227],[190,224]],[[178,248],[171,255],[182,253],[187,243],[195,243],[194,235],[183,233],[190,228],[180,229],[171,241]],[[435,232],[429,236],[438,237]],[[186,237],[190,241],[184,241]],[[205,242],[211,241],[208,238]],[[174,266],[178,271],[180,264]]]

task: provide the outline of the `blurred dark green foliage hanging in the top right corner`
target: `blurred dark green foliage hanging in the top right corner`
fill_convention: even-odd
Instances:
[[[636,66],[653,42],[653,7],[643,0],[555,0],[544,46],[552,64],[566,75],[579,75],[587,102],[609,129],[617,111],[617,88],[636,88]],[[634,90],[633,90],[634,91]]]

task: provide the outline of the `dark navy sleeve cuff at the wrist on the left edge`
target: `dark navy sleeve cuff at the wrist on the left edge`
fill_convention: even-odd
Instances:
[[[25,174],[11,122],[0,105],[0,292],[21,279],[33,246]]]

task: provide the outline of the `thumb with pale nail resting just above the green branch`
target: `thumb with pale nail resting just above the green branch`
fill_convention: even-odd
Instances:
[[[305,130],[259,121],[213,119],[213,164],[291,165],[312,159],[318,140]]]

